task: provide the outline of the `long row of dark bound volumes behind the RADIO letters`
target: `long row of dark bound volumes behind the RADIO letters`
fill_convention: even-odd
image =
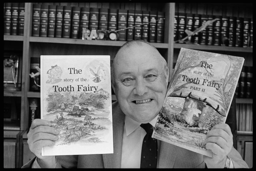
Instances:
[[[162,43],[164,17],[157,11],[33,4],[32,36],[81,39],[83,29],[95,29],[117,31],[120,41]]]

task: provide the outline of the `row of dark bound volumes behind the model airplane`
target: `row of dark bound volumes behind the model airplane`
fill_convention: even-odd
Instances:
[[[185,38],[186,29],[194,31],[206,21],[214,19],[218,20],[189,37],[186,42],[200,45],[252,47],[253,20],[241,17],[175,13],[174,41]]]

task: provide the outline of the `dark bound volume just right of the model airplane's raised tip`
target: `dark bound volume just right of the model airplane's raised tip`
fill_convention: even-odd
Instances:
[[[228,46],[228,36],[229,36],[229,17],[222,16],[221,18],[221,46]]]

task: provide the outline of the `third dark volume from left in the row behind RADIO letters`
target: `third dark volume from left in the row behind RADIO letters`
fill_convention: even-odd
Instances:
[[[49,5],[47,37],[54,37],[56,21],[56,5]]]

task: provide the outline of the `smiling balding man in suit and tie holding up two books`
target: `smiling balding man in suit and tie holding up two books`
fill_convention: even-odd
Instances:
[[[117,98],[112,104],[114,153],[41,156],[42,147],[54,145],[59,131],[50,127],[50,122],[35,119],[28,133],[28,144],[37,157],[24,168],[140,168],[142,141],[146,135],[140,125],[150,123],[155,126],[167,92],[167,63],[155,47],[142,40],[133,40],[117,52],[111,76]],[[233,148],[232,133],[227,124],[214,126],[206,143],[206,149],[213,152],[212,158],[158,140],[157,167],[224,168],[226,161],[231,163],[227,167],[248,167]]]

